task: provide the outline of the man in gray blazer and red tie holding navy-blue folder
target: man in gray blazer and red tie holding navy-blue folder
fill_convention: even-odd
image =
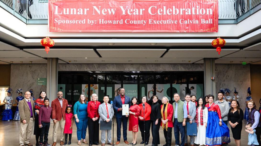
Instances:
[[[186,104],[187,111],[188,111],[188,118],[186,122],[192,123],[195,122],[194,118],[196,116],[196,104],[191,100],[190,94],[186,94],[184,103]],[[194,146],[194,136],[190,137],[190,145]],[[185,126],[185,145],[188,145],[188,136],[187,136],[187,126]]]

